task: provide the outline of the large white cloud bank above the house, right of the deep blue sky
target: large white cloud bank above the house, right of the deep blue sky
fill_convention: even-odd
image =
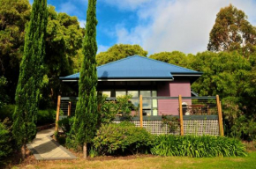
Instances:
[[[124,0],[124,4],[131,2]],[[139,2],[143,4],[146,0]],[[124,4],[120,4],[119,8],[122,9]],[[245,11],[252,25],[256,23],[253,20],[256,17],[256,3],[253,0],[158,0],[147,6],[135,3],[139,25],[129,30],[125,25],[117,25],[117,43],[138,43],[150,54],[173,50],[195,54],[207,50],[216,14],[229,4]]]

